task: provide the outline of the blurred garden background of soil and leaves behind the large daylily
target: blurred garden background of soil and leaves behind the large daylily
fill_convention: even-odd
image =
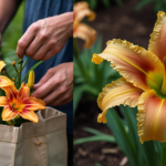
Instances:
[[[79,0],[74,0],[77,2]],[[96,98],[102,89],[120,77],[103,62],[91,62],[93,53],[101,53],[112,39],[127,40],[147,49],[156,13],[166,11],[165,0],[86,0],[96,19],[83,22],[97,32],[90,49],[76,39],[82,66],[74,59],[74,166],[157,166],[160,143],[139,143],[136,108],[115,107],[107,114],[107,124],[97,123],[101,113]],[[84,68],[84,73],[80,70]]]

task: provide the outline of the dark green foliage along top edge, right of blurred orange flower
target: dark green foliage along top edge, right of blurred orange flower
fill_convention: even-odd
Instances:
[[[74,3],[82,0],[74,0]],[[90,4],[92,10],[95,10],[100,4],[103,4],[105,8],[111,7],[111,1],[115,1],[118,6],[123,4],[122,0],[84,0]]]

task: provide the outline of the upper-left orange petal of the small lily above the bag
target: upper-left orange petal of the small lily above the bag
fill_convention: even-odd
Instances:
[[[8,100],[12,101],[13,98],[17,98],[18,90],[13,84],[11,86],[2,87],[2,90],[6,92]]]

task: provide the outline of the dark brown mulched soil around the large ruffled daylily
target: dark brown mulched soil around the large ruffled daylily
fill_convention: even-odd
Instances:
[[[139,11],[134,11],[135,6],[141,0],[124,0],[123,7],[112,4],[108,9],[97,9],[96,20],[89,23],[98,35],[103,37],[103,48],[111,39],[125,39],[147,49],[149,34],[156,21],[156,13],[153,3],[144,7]],[[74,139],[91,136],[83,131],[84,127],[93,127],[103,133],[112,134],[104,124],[96,122],[100,108],[96,102],[90,102],[83,97],[76,110],[74,121]],[[113,149],[104,153],[103,149]],[[124,158],[116,144],[106,142],[93,142],[74,145],[74,166],[120,166]]]

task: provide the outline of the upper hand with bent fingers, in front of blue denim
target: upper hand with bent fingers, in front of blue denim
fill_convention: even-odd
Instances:
[[[18,42],[17,55],[45,61],[59,53],[73,34],[73,12],[39,20]]]

